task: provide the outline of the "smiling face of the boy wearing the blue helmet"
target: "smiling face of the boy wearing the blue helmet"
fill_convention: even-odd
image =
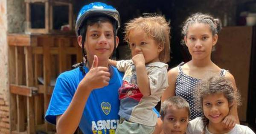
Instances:
[[[118,43],[119,39],[116,37],[116,45]],[[104,22],[87,26],[84,48],[89,62],[93,61],[94,55],[97,55],[99,61],[108,61],[114,49],[113,25]]]

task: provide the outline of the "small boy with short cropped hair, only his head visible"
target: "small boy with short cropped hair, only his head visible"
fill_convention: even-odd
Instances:
[[[189,103],[181,97],[170,97],[161,105],[164,134],[185,134],[190,117]]]

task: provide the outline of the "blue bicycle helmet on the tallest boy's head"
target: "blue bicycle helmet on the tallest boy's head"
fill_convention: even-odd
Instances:
[[[80,35],[81,27],[88,17],[92,16],[107,16],[116,21],[116,33],[120,28],[120,15],[119,12],[105,3],[95,2],[85,5],[80,11],[76,19],[76,36]]]

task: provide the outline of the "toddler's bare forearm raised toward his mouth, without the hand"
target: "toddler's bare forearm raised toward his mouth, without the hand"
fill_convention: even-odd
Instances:
[[[143,96],[151,95],[150,87],[149,87],[149,80],[145,65],[138,65],[136,66],[137,72],[137,84],[140,89],[140,92]]]

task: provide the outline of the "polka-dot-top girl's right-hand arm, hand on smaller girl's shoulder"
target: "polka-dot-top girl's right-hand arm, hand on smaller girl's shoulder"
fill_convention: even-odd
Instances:
[[[229,80],[232,81],[233,88],[234,88],[235,92],[237,92],[236,82],[235,82],[235,78],[233,77],[233,75],[230,74],[229,72],[227,72],[227,75],[225,77],[227,77]],[[240,124],[238,112],[237,112],[236,101],[234,101],[233,106],[230,108],[229,114],[227,115],[227,117],[225,117],[225,119],[222,121],[222,123],[224,124],[224,126],[226,128],[233,128],[236,124]]]

